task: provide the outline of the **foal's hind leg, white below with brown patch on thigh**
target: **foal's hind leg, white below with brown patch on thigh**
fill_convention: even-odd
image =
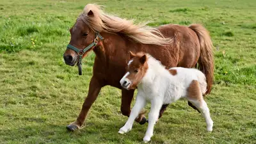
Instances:
[[[198,81],[192,81],[188,88],[187,99],[191,102],[205,118],[207,131],[212,131],[213,121],[210,116],[209,108],[204,100]]]

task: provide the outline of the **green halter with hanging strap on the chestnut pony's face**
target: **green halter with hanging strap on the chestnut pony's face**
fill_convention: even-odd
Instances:
[[[92,47],[94,47],[95,45],[98,44],[97,37],[99,37],[100,40],[103,40],[103,37],[99,33],[96,33],[92,44],[88,45],[84,49],[77,49],[76,47],[74,47],[73,45],[70,45],[70,44],[67,45],[67,49],[72,49],[73,51],[77,52],[77,54],[79,55],[79,58],[78,58],[78,61],[77,61],[77,67],[78,67],[78,74],[79,75],[82,75],[81,65],[82,65],[83,54],[84,54],[84,52],[88,51],[89,49],[91,49]]]

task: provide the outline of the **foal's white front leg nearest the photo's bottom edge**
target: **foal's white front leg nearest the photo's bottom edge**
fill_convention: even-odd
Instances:
[[[163,102],[161,100],[159,100],[159,99],[151,100],[151,108],[150,108],[150,112],[148,114],[148,129],[143,138],[143,141],[145,143],[150,141],[151,137],[153,136],[154,125],[157,122],[157,118],[159,116],[159,111],[162,106],[163,106]]]

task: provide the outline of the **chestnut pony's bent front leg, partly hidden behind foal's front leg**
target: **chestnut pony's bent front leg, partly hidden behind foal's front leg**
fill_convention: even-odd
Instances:
[[[128,116],[131,113],[131,102],[134,95],[134,90],[122,90],[122,104],[121,104],[121,112],[123,115]],[[136,118],[136,122],[139,122],[141,125],[145,124],[147,118],[143,115],[144,113],[140,113],[140,115]]]

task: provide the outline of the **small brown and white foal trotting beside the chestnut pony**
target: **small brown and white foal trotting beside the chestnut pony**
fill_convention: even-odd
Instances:
[[[131,115],[124,127],[118,131],[120,134],[131,131],[135,118],[149,101],[151,108],[148,114],[148,129],[143,138],[147,143],[153,136],[161,106],[171,104],[180,98],[189,100],[200,110],[205,118],[207,131],[212,131],[213,122],[203,98],[207,83],[202,72],[195,68],[182,67],[168,70],[149,54],[130,54],[127,73],[120,80],[120,84],[127,90],[138,87],[138,94]]]

